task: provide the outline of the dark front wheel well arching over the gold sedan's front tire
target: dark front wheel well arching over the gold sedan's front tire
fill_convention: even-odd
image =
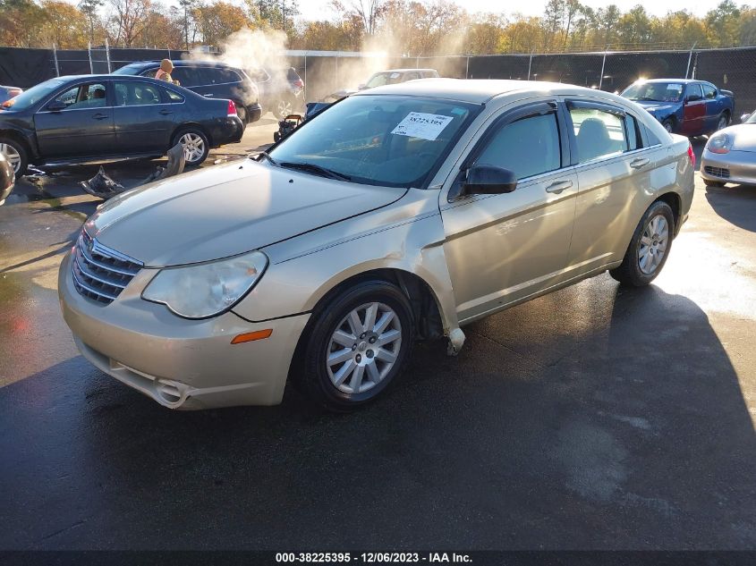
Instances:
[[[436,295],[418,275],[401,269],[373,269],[360,275],[353,275],[338,283],[336,287],[328,291],[319,301],[313,313],[333,300],[336,295],[351,287],[354,283],[365,280],[380,280],[394,283],[407,296],[412,307],[412,316],[415,321],[415,337],[419,340],[441,338],[444,335],[444,325],[441,322],[441,313],[438,309]]]

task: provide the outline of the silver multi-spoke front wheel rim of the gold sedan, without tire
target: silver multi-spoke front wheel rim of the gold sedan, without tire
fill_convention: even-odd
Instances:
[[[331,335],[326,366],[331,383],[343,393],[364,393],[394,367],[402,348],[402,324],[394,310],[371,302],[354,308]]]

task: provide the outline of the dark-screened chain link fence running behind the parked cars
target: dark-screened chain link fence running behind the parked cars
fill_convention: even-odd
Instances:
[[[91,47],[83,50],[0,48],[0,84],[29,88],[68,74],[106,73],[126,63],[180,59],[184,51]],[[641,77],[709,80],[735,92],[738,114],[756,109],[756,47],[549,55],[386,57],[379,54],[288,52],[307,100],[356,89],[372,72],[432,68],[457,79],[549,80],[621,91]],[[251,54],[251,59],[254,55]]]

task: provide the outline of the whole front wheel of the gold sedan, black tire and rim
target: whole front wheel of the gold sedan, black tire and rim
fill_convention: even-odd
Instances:
[[[304,335],[298,384],[327,410],[355,410],[394,381],[412,351],[414,321],[392,283],[363,281],[313,315]]]

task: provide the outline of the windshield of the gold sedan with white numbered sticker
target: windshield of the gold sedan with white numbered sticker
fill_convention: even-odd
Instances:
[[[270,156],[278,166],[308,173],[420,187],[479,111],[478,105],[441,98],[349,97],[305,122]]]

